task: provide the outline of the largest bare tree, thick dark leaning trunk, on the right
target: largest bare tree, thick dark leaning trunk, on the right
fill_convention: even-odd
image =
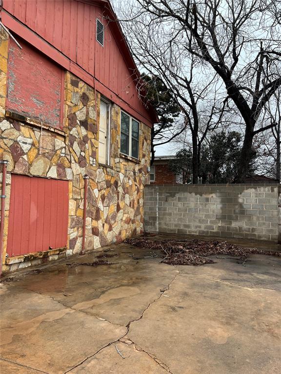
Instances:
[[[134,56],[174,89],[178,85],[176,93],[183,102],[191,57],[197,76],[220,77],[225,100],[234,103],[244,124],[238,183],[247,175],[254,136],[276,125],[259,127],[258,119],[281,86],[278,4],[277,0],[136,0],[123,17]]]

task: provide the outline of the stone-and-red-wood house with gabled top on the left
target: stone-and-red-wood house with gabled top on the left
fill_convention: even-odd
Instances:
[[[3,271],[141,233],[157,116],[109,1],[4,0],[0,15]]]

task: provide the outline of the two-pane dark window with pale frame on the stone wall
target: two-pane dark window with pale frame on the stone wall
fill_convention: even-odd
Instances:
[[[121,153],[139,158],[139,129],[138,121],[121,112]]]

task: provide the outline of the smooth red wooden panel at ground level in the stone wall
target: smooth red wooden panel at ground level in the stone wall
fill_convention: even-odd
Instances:
[[[12,174],[7,253],[18,256],[67,244],[68,182]]]

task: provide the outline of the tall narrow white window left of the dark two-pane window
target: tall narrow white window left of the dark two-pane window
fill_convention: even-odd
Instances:
[[[99,163],[109,165],[110,104],[100,100]]]

